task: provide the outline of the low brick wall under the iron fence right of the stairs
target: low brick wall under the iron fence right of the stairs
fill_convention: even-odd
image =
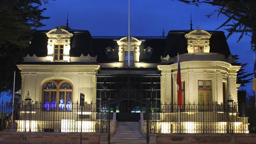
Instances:
[[[149,144],[256,144],[256,134],[150,134]]]

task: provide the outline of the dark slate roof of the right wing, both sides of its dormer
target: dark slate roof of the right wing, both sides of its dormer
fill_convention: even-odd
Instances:
[[[221,53],[226,57],[230,56],[230,50],[226,37],[222,31],[206,30],[212,34],[210,38],[210,53]],[[166,47],[163,56],[169,54],[170,57],[177,56],[177,53],[188,53],[187,40],[185,34],[191,32],[191,30],[170,30],[166,38]]]

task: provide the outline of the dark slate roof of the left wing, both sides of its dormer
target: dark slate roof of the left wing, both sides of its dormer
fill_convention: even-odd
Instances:
[[[81,53],[83,53],[84,56],[87,56],[87,54],[95,56],[92,47],[92,37],[88,30],[67,31],[73,34],[70,40],[70,56],[81,56]],[[30,56],[35,54],[37,57],[47,56],[47,32],[49,32],[49,30],[37,30],[34,33],[27,54]]]

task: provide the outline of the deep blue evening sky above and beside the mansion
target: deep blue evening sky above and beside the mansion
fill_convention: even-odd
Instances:
[[[225,20],[217,14],[211,18],[205,15],[216,9],[211,5],[200,7],[186,5],[177,0],[131,0],[130,33],[132,36],[161,36],[163,27],[165,35],[169,30],[190,29],[192,14],[193,29],[200,26],[203,30],[215,30]],[[89,30],[92,36],[126,36],[128,34],[128,0],[56,0],[44,5],[44,16],[51,17],[42,21],[46,26],[39,30],[50,30],[57,25],[65,25],[67,12],[72,29]],[[220,30],[225,30],[222,28]],[[227,35],[227,33],[225,32]],[[239,62],[249,63],[247,72],[253,72],[253,52],[250,37],[244,36],[237,43],[240,35],[235,34],[227,41],[232,54],[240,55]],[[252,83],[245,87],[252,90]]]

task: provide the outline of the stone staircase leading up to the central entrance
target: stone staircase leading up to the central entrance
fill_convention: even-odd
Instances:
[[[116,134],[111,139],[145,139],[140,133],[140,122],[117,122]]]

